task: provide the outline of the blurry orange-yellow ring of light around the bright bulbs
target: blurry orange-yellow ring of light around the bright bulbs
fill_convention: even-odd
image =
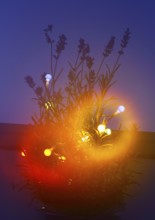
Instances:
[[[135,107],[131,106],[130,102],[129,101],[127,102],[125,98],[123,101],[122,100],[123,99],[121,99],[121,102],[124,103],[124,106],[126,106],[127,108],[126,112],[123,112],[125,111],[125,107],[123,105],[117,105],[116,108],[115,108],[115,105],[109,106],[110,112],[114,112],[112,114],[112,117],[115,115],[119,116],[123,112],[123,115],[122,115],[123,118],[120,119],[121,125],[122,125],[121,131],[118,131],[118,138],[113,139],[112,144],[109,142],[107,142],[106,144],[106,139],[105,141],[103,140],[103,144],[104,143],[106,144],[104,145],[103,148],[96,147],[96,145],[94,145],[94,142],[93,142],[93,136],[89,134],[87,131],[84,131],[81,126],[83,125],[83,122],[85,122],[84,119],[87,118],[89,113],[91,113],[91,111],[94,110],[94,103],[92,104],[93,107],[91,108],[91,102],[89,102],[89,100],[87,102],[86,100],[86,103],[83,104],[81,109],[77,108],[75,111],[71,112],[71,114],[68,115],[68,118],[69,119],[71,118],[70,121],[75,131],[75,140],[78,143],[77,146],[79,146],[79,150],[81,150],[86,155],[88,155],[88,158],[91,158],[92,160],[104,161],[106,159],[109,160],[115,157],[116,158],[123,157],[126,153],[128,153],[128,151],[132,150],[131,146],[132,146],[132,143],[134,142],[135,135],[131,134],[130,132],[124,131],[124,129],[129,128],[133,120],[134,122],[137,121],[137,116],[133,114]],[[101,121],[96,126],[96,132],[98,136],[103,135],[103,138],[110,137],[109,135],[111,134],[111,130],[108,129],[106,126],[108,125],[107,125],[106,114],[105,114],[104,121]],[[111,126],[114,126],[112,130],[115,130],[115,122]],[[89,136],[89,138],[87,136]],[[90,146],[94,145],[94,147],[89,147],[89,144]],[[91,159],[90,159],[90,162],[92,162]]]

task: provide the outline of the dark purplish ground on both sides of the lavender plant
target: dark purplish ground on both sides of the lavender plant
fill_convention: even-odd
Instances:
[[[79,219],[75,217],[45,216],[38,210],[39,204],[30,206],[31,195],[29,191],[23,190],[18,192],[13,188],[14,184],[21,181],[20,169],[18,167],[19,152],[15,150],[14,134],[12,137],[10,136],[12,139],[6,139],[5,132],[1,133],[0,136],[2,137],[2,135],[3,141],[5,140],[5,146],[1,142],[0,220]],[[131,189],[135,197],[127,200],[125,211],[120,213],[121,220],[155,220],[155,160],[141,158],[139,163],[134,166],[142,174],[138,175],[137,178],[139,185]],[[100,219],[105,220],[105,218]]]

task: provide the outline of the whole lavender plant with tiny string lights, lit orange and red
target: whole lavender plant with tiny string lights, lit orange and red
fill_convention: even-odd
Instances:
[[[106,95],[115,83],[130,31],[125,31],[112,67],[107,58],[113,52],[115,37],[103,49],[97,68],[89,44],[81,38],[75,62],[69,62],[67,73],[59,66],[66,36],[60,35],[55,43],[52,25],[44,33],[51,49],[51,72],[41,75],[42,86],[25,77],[39,106],[39,114],[32,116],[33,131],[22,150],[25,173],[46,209],[81,215],[86,210],[95,215],[99,211],[115,213],[122,208],[124,189],[132,182],[127,170],[130,137],[109,128],[109,121],[125,107],[107,114],[113,99]],[[62,77],[64,81],[65,76],[65,83],[59,87],[58,80]]]

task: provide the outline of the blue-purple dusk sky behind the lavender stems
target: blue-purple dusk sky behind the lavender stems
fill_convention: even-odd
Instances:
[[[117,51],[129,27],[132,37],[113,91],[130,103],[140,130],[155,131],[154,22],[151,0],[1,0],[0,122],[31,122],[36,105],[24,76],[37,81],[42,72],[50,71],[49,45],[43,34],[48,24],[54,25],[56,38],[62,33],[67,36],[62,63],[76,56],[80,37],[90,44],[98,62],[109,38],[116,36]]]

